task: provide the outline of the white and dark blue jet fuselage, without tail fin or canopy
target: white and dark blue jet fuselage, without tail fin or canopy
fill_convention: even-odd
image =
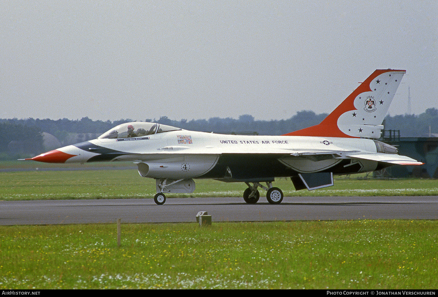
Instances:
[[[318,160],[293,155],[314,150],[377,152],[373,140],[339,137],[241,136],[177,130],[134,138],[95,139],[58,150],[71,155],[65,163],[132,161],[138,164],[141,176],[151,178],[254,182],[297,173],[325,171],[336,175],[378,167],[377,161],[342,156]]]

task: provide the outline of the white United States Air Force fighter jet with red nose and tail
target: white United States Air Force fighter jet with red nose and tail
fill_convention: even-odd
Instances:
[[[26,160],[134,162],[142,177],[155,178],[157,204],[166,202],[165,193],[194,192],[197,178],[244,182],[246,203],[258,201],[260,187],[269,203],[279,204],[283,192],[272,186],[275,178],[290,177],[296,190],[313,190],[333,185],[333,175],[423,164],[373,140],[381,136],[381,123],[405,73],[375,70],[319,125],[281,136],[224,135],[129,122],[95,140]]]

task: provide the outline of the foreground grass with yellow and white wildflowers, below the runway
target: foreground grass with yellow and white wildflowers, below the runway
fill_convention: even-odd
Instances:
[[[0,227],[0,289],[433,289],[437,221]]]

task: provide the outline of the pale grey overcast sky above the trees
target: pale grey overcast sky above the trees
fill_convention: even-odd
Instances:
[[[438,2],[3,1],[0,118],[289,119],[375,69],[438,108]]]

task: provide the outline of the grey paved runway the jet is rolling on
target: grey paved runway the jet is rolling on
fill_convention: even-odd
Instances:
[[[207,211],[213,222],[405,219],[437,220],[438,196],[285,197],[279,205],[243,198],[0,201],[0,225],[195,222]]]

